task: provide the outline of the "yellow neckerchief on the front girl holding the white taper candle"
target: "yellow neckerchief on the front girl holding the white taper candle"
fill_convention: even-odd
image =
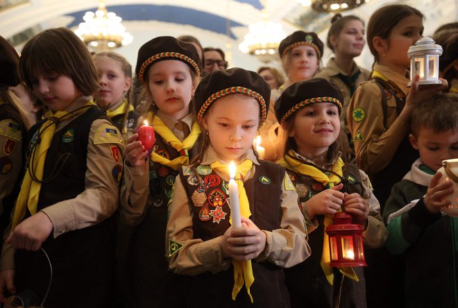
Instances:
[[[210,167],[229,176],[228,164],[221,164],[221,162],[217,161],[210,164]],[[253,162],[251,160],[244,160],[237,166],[238,172],[235,175],[235,182],[237,182],[237,188],[239,190],[240,216],[244,216],[247,219],[250,218],[251,212],[248,197],[246,196],[244,181],[242,179],[246,177],[246,174],[252,168]],[[232,225],[232,217],[229,222]],[[253,303],[253,296],[251,296],[250,287],[255,281],[255,277],[253,276],[253,268],[251,268],[251,260],[244,262],[232,260],[232,265],[234,266],[234,288],[232,289],[232,300],[235,300],[245,282],[246,291],[248,292],[248,296],[250,296],[251,303]]]

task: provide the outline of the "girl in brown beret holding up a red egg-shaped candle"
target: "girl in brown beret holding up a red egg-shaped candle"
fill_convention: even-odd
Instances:
[[[128,307],[165,307],[166,282],[173,280],[164,257],[167,204],[178,170],[200,148],[201,127],[192,102],[201,60],[192,44],[155,37],[140,47],[135,72],[149,99],[144,117],[156,138],[151,154],[137,133],[126,140],[120,211],[126,223],[136,225],[126,258],[126,302]]]

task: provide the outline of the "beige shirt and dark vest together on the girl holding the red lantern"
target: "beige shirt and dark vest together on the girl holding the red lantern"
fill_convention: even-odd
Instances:
[[[294,152],[296,159],[307,164],[316,166],[314,162]],[[337,162],[336,157],[333,164]],[[356,165],[346,164],[343,166],[342,192],[352,194],[357,192],[365,198],[369,205],[369,214],[366,230],[363,232],[364,243],[371,248],[379,248],[384,245],[388,237],[387,229],[384,227],[382,216],[380,216],[380,205],[373,195],[371,184],[364,171],[357,169]],[[324,215],[317,215],[312,221],[309,219],[306,202],[324,191],[326,188],[321,182],[314,180],[311,176],[299,173],[294,167],[287,166],[287,173],[296,187],[300,200],[300,210],[303,212],[309,234],[309,245],[312,249],[312,256],[304,262],[285,269],[287,286],[291,296],[291,305],[303,305],[305,302],[312,307],[334,307],[334,296],[337,294],[341,273],[335,270],[334,284],[331,286],[326,280],[321,258],[323,252],[323,238],[325,232]],[[346,278],[342,286],[341,307],[366,307],[365,282],[362,268],[354,267],[353,270],[359,278],[359,282]],[[317,289],[319,290],[317,292]]]

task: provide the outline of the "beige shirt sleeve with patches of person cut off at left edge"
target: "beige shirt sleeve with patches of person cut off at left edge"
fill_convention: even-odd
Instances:
[[[9,103],[0,102],[0,234],[10,222],[22,177],[24,123]]]

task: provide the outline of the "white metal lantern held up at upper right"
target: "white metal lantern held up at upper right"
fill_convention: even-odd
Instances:
[[[420,76],[420,85],[441,85],[439,80],[439,55],[442,46],[435,44],[430,37],[423,37],[409,47],[407,56],[410,58],[410,80]],[[412,81],[407,85],[410,87]]]

